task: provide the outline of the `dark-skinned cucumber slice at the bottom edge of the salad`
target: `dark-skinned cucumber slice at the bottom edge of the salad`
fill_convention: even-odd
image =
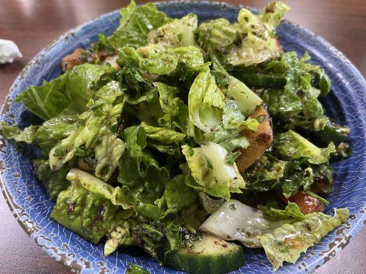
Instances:
[[[193,274],[216,274],[234,271],[244,262],[242,247],[216,236],[203,234],[190,248],[170,251],[165,263],[174,269]]]

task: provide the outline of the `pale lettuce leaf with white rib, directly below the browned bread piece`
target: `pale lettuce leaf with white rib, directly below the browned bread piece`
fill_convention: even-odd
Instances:
[[[227,151],[220,145],[214,142],[198,148],[183,145],[182,152],[194,179],[194,182],[186,182],[189,186],[224,199],[230,198],[230,192],[241,192],[240,188],[245,188],[236,164],[227,163]]]

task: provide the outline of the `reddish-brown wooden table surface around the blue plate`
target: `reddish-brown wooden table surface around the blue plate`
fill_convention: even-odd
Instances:
[[[143,3],[146,1],[137,1]],[[268,1],[228,1],[261,8]],[[343,51],[366,73],[366,4],[364,0],[297,0],[286,18],[299,23]],[[0,65],[0,103],[21,69],[43,47],[68,29],[126,5],[116,0],[0,0],[0,38],[16,42],[23,59]],[[1,195],[0,195],[1,196]],[[0,197],[0,273],[69,273],[47,257],[18,225]],[[315,273],[365,273],[366,229],[336,258]]]

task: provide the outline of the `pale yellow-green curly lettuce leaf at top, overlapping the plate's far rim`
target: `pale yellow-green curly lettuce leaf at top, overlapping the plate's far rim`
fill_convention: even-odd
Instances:
[[[288,6],[281,2],[269,3],[258,15],[242,8],[238,23],[216,19],[200,25],[197,42],[204,49],[211,47],[227,64],[260,64],[278,57],[281,51],[275,28],[286,10]]]

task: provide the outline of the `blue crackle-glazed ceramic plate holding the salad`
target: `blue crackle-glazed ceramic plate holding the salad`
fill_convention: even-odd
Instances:
[[[158,3],[159,10],[173,17],[194,12],[201,21],[225,17],[236,20],[239,6],[225,3]],[[60,60],[78,47],[88,47],[101,32],[109,35],[117,27],[117,11],[71,30],[53,45],[45,48],[25,67],[16,79],[2,109],[1,120],[26,126],[37,119],[14,103],[19,92],[39,85],[44,79],[60,75]],[[332,208],[347,207],[350,219],[328,234],[319,244],[308,249],[295,264],[285,264],[277,273],[308,273],[327,262],[347,245],[365,222],[366,179],[366,84],[357,69],[342,53],[323,39],[293,23],[284,21],[278,28],[281,44],[286,51],[299,55],[308,51],[314,64],[322,66],[332,79],[332,91],[323,100],[327,114],[351,129],[350,143],[354,153],[348,160],[334,164],[334,190],[328,197]],[[108,258],[103,257],[103,245],[93,245],[65,227],[49,219],[54,203],[34,175],[32,159],[36,150],[26,145],[15,145],[1,138],[0,168],[3,195],[23,229],[42,249],[70,269],[80,273],[124,273],[129,262],[144,266],[151,273],[177,273],[133,248],[121,248]],[[271,264],[263,251],[247,250],[245,265],[235,273],[271,273]]]

